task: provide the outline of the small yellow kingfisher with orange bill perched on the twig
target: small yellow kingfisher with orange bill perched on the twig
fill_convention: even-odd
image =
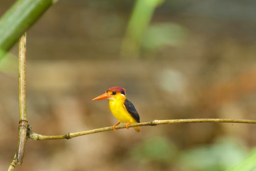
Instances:
[[[128,99],[126,99],[126,91],[120,86],[113,86],[104,94],[101,94],[93,99],[103,100],[109,99],[109,109],[118,122],[113,126],[113,129],[116,131],[116,126],[120,123],[126,123],[126,128],[130,124],[140,123],[140,116],[136,108]],[[140,127],[134,127],[137,132],[140,132]]]

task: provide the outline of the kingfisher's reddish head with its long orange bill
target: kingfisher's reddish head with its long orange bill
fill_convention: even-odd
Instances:
[[[95,97],[93,99],[93,101],[95,100],[103,100],[103,99],[118,99],[118,98],[121,98],[121,99],[125,99],[125,96],[126,96],[126,93],[125,93],[125,89],[120,87],[120,86],[113,86],[113,87],[110,87],[109,89],[107,89],[107,91],[104,93],[104,94],[101,94],[97,97]]]

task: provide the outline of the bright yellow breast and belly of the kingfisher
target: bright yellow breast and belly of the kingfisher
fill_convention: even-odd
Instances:
[[[128,111],[125,109],[123,100],[110,99],[109,109],[118,121],[123,123],[137,123],[130,113],[128,113]]]

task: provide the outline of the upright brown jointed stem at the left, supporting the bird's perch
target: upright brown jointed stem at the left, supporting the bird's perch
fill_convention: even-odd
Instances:
[[[23,162],[23,154],[27,135],[26,117],[26,33],[19,41],[19,102],[20,102],[20,122],[19,140],[17,148],[18,164]]]

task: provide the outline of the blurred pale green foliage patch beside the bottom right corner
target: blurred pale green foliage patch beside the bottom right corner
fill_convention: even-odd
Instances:
[[[242,161],[246,154],[241,142],[224,137],[212,145],[183,151],[179,165],[184,171],[224,171]]]

